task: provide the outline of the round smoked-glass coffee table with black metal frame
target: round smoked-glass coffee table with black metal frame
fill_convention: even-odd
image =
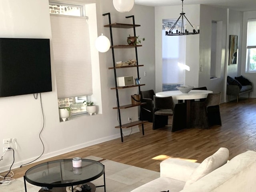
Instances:
[[[104,185],[95,186],[90,183],[100,176],[104,175]],[[74,168],[72,159],[54,160],[38,164],[28,169],[24,175],[25,192],[27,192],[26,181],[30,184],[40,186],[48,192],[66,192],[66,187],[70,187],[72,192],[75,192],[75,187],[80,184],[88,184],[91,190],[86,192],[95,192],[96,187],[104,187],[105,183],[105,168],[104,165],[98,161],[90,159],[82,159],[82,167]]]

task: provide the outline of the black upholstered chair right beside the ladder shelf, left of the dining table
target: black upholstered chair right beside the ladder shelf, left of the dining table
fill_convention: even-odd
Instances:
[[[140,107],[140,120],[153,122],[153,100],[155,92],[154,90],[141,91],[141,102],[146,103]]]

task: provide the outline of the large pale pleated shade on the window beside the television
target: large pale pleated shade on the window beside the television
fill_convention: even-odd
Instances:
[[[92,94],[89,29],[85,18],[51,15],[58,98]]]

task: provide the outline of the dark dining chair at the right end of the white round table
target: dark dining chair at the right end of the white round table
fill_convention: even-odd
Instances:
[[[192,126],[209,129],[212,125],[222,125],[220,117],[221,93],[209,93],[204,102],[191,102]]]

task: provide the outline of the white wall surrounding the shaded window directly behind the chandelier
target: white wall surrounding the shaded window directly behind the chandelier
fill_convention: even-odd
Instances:
[[[156,92],[162,92],[162,19],[178,19],[181,9],[181,6],[155,7]],[[184,12],[192,24],[199,24],[200,5],[186,5]],[[199,35],[186,37],[186,65],[190,71],[186,71],[185,84],[198,86]]]

